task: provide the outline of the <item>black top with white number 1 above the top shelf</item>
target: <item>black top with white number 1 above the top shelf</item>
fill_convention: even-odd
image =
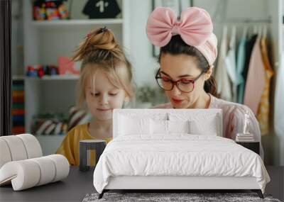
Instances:
[[[89,18],[116,18],[121,12],[116,0],[89,0],[82,11]]]

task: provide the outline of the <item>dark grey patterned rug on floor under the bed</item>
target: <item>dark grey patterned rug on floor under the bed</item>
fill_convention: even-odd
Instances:
[[[258,197],[257,193],[104,193],[104,197],[98,199],[99,193],[88,193],[83,202],[94,201],[269,201],[280,202],[278,199],[272,198],[271,195],[264,194],[264,199]]]

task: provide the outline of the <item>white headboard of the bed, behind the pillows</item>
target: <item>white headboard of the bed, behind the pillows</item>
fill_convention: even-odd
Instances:
[[[119,124],[123,121],[121,117],[129,118],[152,118],[153,120],[197,120],[203,123],[209,118],[216,120],[217,135],[223,136],[222,109],[114,109],[113,113],[113,137],[119,136]]]

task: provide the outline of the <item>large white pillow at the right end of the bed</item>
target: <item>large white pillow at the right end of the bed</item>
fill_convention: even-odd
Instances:
[[[203,120],[190,120],[190,134],[217,136],[218,131],[217,116],[208,116]]]

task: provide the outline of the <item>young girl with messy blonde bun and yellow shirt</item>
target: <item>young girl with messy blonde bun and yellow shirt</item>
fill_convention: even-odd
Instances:
[[[56,153],[78,166],[80,140],[111,140],[112,111],[122,108],[133,97],[133,85],[131,64],[116,43],[114,33],[107,28],[89,33],[73,60],[82,60],[78,103],[82,106],[86,101],[93,120],[72,128]]]

